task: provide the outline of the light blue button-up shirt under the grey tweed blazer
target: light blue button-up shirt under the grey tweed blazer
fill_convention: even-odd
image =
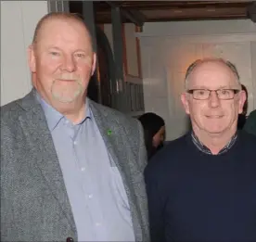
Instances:
[[[73,124],[37,95],[52,134],[79,241],[134,241],[121,174],[109,157],[86,99],[83,121]],[[108,131],[106,131],[108,132]]]

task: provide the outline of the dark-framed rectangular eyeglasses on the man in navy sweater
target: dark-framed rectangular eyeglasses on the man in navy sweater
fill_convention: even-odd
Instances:
[[[229,100],[229,99],[233,99],[234,96],[239,91],[240,90],[237,90],[237,89],[217,89],[217,90],[191,89],[191,90],[187,90],[186,92],[188,94],[192,94],[193,98],[197,100],[207,100],[210,97],[211,92],[215,92],[219,99]]]

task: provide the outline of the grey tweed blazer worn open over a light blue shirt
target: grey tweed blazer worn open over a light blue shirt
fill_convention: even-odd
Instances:
[[[1,108],[1,241],[77,241],[57,153],[34,93]],[[93,101],[90,108],[121,172],[135,239],[149,241],[142,128]]]

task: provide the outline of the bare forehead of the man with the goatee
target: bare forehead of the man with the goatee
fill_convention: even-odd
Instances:
[[[83,23],[75,19],[47,19],[38,32],[39,45],[91,46],[91,38]],[[58,46],[61,47],[61,46]]]

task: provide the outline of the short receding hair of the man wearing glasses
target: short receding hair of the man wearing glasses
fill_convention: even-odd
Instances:
[[[195,70],[195,68],[199,64],[202,64],[205,62],[211,62],[211,61],[224,63],[224,65],[226,65],[230,70],[232,70],[234,75],[237,77],[237,83],[241,86],[240,76],[238,74],[237,67],[232,62],[230,62],[229,60],[224,60],[223,58],[203,58],[203,59],[197,59],[187,68],[186,76],[185,76],[185,88],[186,89],[188,87],[188,78],[189,78],[190,74],[193,72],[193,70]]]

